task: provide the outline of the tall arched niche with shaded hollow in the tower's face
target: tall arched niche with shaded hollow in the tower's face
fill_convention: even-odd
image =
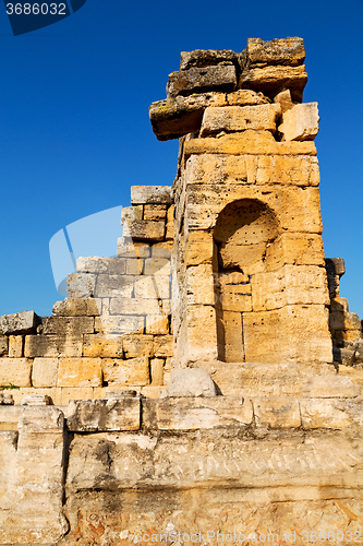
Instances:
[[[219,214],[214,241],[218,357],[244,361],[243,314],[253,312],[253,275],[263,273],[280,233],[277,217],[265,203],[241,199]]]

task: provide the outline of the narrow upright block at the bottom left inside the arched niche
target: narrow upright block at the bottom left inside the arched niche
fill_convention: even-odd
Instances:
[[[217,318],[219,319],[218,314]],[[218,329],[218,343],[223,353],[226,363],[244,361],[243,327],[241,312],[222,311],[220,329]]]

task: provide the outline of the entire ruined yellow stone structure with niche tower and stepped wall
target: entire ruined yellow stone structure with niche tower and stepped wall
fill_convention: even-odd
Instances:
[[[182,52],[116,258],[2,316],[0,544],[363,541],[363,340],[322,239],[301,38]]]

